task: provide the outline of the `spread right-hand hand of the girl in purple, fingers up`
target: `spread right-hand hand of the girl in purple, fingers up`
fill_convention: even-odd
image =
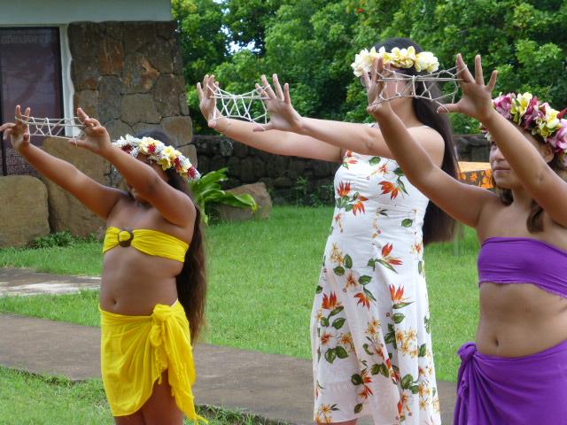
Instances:
[[[498,71],[493,71],[488,84],[485,85],[480,55],[475,57],[474,77],[462,60],[460,53],[457,55],[456,66],[462,79],[460,85],[463,96],[456,104],[439,106],[438,112],[460,112],[479,121],[485,120],[494,111],[493,89],[496,86]]]

